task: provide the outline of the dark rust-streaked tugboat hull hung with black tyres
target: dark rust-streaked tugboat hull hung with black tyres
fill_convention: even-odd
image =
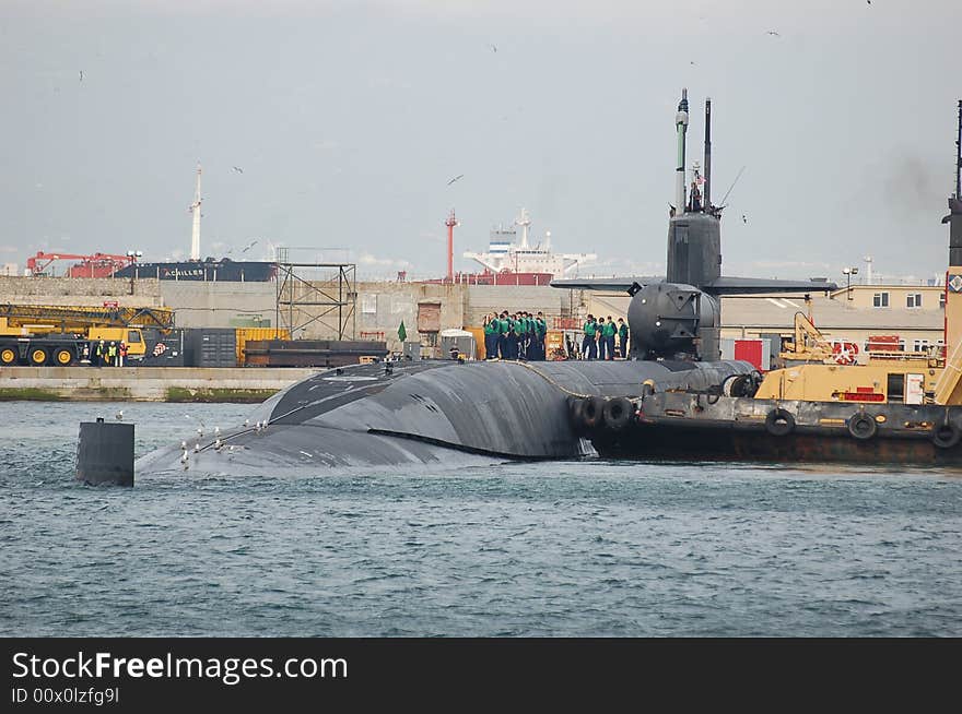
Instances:
[[[962,465],[962,407],[756,400],[690,392],[632,402],[587,432],[606,457]],[[578,425],[575,425],[576,428]],[[584,426],[580,430],[585,432]]]

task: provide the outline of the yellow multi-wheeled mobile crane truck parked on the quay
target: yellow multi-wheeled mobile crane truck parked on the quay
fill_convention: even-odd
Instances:
[[[0,366],[86,362],[101,340],[124,342],[128,359],[142,359],[141,330],[169,332],[173,326],[169,308],[0,305]]]

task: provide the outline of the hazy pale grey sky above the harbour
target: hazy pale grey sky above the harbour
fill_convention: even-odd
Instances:
[[[724,273],[931,276],[960,27],[958,0],[0,0],[0,263],[186,255],[200,162],[206,255],[436,276],[451,209],[474,270],[525,206],[583,274],[660,273],[687,86],[713,197],[746,167]]]

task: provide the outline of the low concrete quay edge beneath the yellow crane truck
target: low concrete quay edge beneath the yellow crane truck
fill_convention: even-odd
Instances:
[[[0,401],[260,403],[318,371],[258,367],[2,367]]]

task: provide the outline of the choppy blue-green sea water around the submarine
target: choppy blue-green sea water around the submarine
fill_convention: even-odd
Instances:
[[[3,404],[0,634],[959,636],[962,472],[579,461],[73,480],[245,405]]]

